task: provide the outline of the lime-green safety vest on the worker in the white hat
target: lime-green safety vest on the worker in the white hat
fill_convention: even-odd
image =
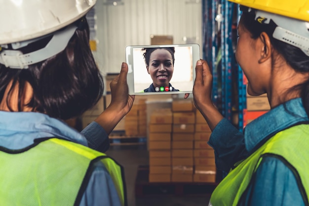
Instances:
[[[97,161],[127,205],[123,168],[103,153],[58,138],[22,150],[0,147],[0,206],[78,206]]]

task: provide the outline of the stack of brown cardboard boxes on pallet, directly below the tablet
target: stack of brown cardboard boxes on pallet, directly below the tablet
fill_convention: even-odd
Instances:
[[[211,131],[193,101],[174,100],[152,113],[149,124],[150,182],[215,182]]]

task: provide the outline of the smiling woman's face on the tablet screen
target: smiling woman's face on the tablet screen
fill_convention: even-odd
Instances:
[[[174,71],[172,54],[164,48],[154,50],[150,55],[147,71],[153,80],[154,87],[168,86]]]

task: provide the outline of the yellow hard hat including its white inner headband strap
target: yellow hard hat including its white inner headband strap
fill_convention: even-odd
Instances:
[[[272,37],[309,56],[309,0],[229,0],[255,12],[255,20],[276,27]]]

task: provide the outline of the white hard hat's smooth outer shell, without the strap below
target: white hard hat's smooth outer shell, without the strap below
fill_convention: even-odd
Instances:
[[[61,29],[84,16],[96,0],[0,0],[0,44]]]

